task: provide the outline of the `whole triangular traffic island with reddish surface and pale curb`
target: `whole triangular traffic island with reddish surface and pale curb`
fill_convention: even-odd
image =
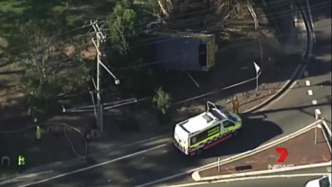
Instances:
[[[324,123],[312,124],[269,146],[219,160],[195,171],[194,181],[230,179],[331,165],[329,129]]]

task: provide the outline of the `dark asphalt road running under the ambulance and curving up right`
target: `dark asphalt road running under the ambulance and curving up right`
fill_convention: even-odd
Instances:
[[[314,3],[323,0],[314,1]],[[202,165],[216,161],[217,156],[226,158],[230,155],[241,153],[258,147],[262,143],[290,134],[314,121],[314,110],[319,108],[326,121],[331,121],[331,10],[330,5],[326,9],[313,11],[317,44],[315,45],[312,66],[308,67],[309,77],[302,77],[299,85],[296,85],[278,102],[268,109],[244,116],[244,132],[238,139],[231,139],[206,151],[201,158],[183,156],[175,150],[170,143],[171,138],[161,140],[160,144],[167,142],[159,148],[116,159],[113,156],[103,159],[91,160],[85,165],[68,168],[61,171],[53,171],[38,177],[13,181],[8,186],[19,186],[33,181],[75,171],[102,161],[116,159],[99,167],[82,170],[78,173],[64,175],[52,180],[43,181],[33,186],[136,186],[168,176],[184,173]],[[329,26],[328,26],[329,25]],[[312,86],[306,87],[304,81],[310,80]],[[323,85],[321,87],[321,85]],[[313,96],[307,95],[307,90],[314,92]],[[317,105],[312,105],[312,100],[317,100]],[[155,144],[146,144],[144,149],[149,149]],[[139,151],[140,147],[128,148],[126,152]],[[223,186],[303,186],[309,178],[291,178],[275,180],[254,180],[238,183],[223,184]],[[170,180],[162,181],[163,184],[190,181],[190,175],[184,174]],[[280,182],[280,183],[279,183]],[[267,183],[271,185],[266,185]],[[284,185],[281,185],[284,184]],[[294,184],[294,185],[293,185]],[[154,184],[153,184],[154,185]],[[209,186],[219,186],[210,184]]]

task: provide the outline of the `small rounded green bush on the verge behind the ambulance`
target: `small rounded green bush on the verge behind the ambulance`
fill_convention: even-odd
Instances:
[[[166,117],[168,110],[171,107],[171,95],[163,91],[163,88],[159,88],[156,91],[156,95],[153,97],[153,106],[156,108],[159,117]]]

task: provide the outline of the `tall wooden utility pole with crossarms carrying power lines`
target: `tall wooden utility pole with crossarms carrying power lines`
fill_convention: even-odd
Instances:
[[[100,97],[100,56],[101,53],[99,51],[100,44],[105,41],[105,35],[102,33],[99,25],[98,25],[98,20],[94,20],[94,22],[91,22],[92,27],[95,30],[96,34],[96,40],[94,38],[91,38],[92,43],[96,47],[96,52],[97,52],[97,125],[101,133],[104,132],[104,124],[103,124],[103,109],[101,105],[101,97]]]

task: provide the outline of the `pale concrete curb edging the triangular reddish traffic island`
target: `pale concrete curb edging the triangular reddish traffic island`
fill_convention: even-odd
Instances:
[[[323,120],[319,120],[317,121],[318,123],[322,122],[323,125],[325,126],[325,128],[328,129],[328,131],[330,132],[326,122],[324,123]],[[245,152],[246,154],[239,154],[239,155],[235,155],[234,158],[232,159],[229,159],[229,158],[226,158],[222,161],[220,161],[220,165],[222,164],[226,164],[226,163],[229,163],[229,162],[232,162],[232,161],[236,161],[236,160],[239,160],[241,158],[245,158],[247,156],[250,156],[250,155],[253,155],[253,154],[256,154],[258,152],[261,152],[265,149],[268,149],[268,148],[271,148],[273,146],[275,146],[276,144],[279,144],[279,143],[282,143],[284,141],[287,141],[287,140],[290,140],[300,134],[303,134],[309,130],[312,130],[314,129],[316,126],[316,122],[312,123],[312,124],[309,124],[308,126],[302,128],[301,130],[295,132],[295,133],[292,133],[288,136],[284,136],[280,139],[277,139],[273,142],[270,143],[270,145],[267,146],[267,144],[265,144],[264,146],[261,146],[261,147],[258,147],[252,151],[248,151],[248,152]],[[331,136],[331,134],[329,133],[329,135]],[[328,142],[327,142],[328,143]],[[332,153],[332,152],[331,152]],[[230,157],[231,158],[231,157]],[[217,166],[217,162],[214,162],[214,165],[211,165],[205,169],[201,169],[201,170],[198,170],[198,171],[195,171],[191,177],[194,181],[205,181],[205,180],[217,180],[217,179],[224,179],[224,178],[234,178],[234,177],[246,177],[246,176],[251,176],[251,175],[259,175],[259,174],[268,174],[268,173],[278,173],[278,172],[285,172],[285,171],[293,171],[293,170],[300,170],[300,169],[307,169],[307,168],[316,168],[316,167],[323,167],[323,166],[328,166],[328,165],[331,165],[332,164],[332,160],[328,161],[328,162],[322,162],[322,163],[315,163],[315,164],[307,164],[307,165],[300,165],[300,166],[297,166],[297,167],[292,167],[292,168],[281,168],[281,169],[276,169],[276,170],[261,170],[261,171],[254,171],[254,172],[245,172],[245,173],[238,173],[238,174],[228,174],[228,175],[218,175],[218,176],[211,176],[211,177],[201,177],[199,172],[200,171],[203,171],[203,170],[206,170],[206,169],[210,169],[210,168],[213,168],[213,167],[216,167]]]

